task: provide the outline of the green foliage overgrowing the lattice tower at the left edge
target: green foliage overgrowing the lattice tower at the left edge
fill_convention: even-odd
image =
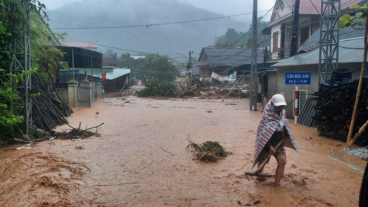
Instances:
[[[21,31],[25,6],[31,8],[26,21],[31,32],[31,63],[34,69],[12,75],[10,62],[14,60],[12,56],[14,51],[9,43],[13,42],[13,37],[23,35]],[[0,145],[15,135],[12,134],[13,129],[17,129],[24,120],[22,115],[14,113],[22,109],[17,102],[23,96],[13,89],[14,84],[24,79],[26,75],[32,75],[40,67],[46,70],[56,68],[63,58],[63,53],[53,46],[54,42],[50,40],[53,39],[50,37],[53,34],[42,19],[48,19],[44,8],[45,5],[37,0],[0,0]],[[22,51],[21,47],[22,45],[18,45],[17,50]],[[40,94],[28,95],[32,97]]]

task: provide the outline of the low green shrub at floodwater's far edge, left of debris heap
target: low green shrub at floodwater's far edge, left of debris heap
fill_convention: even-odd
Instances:
[[[159,81],[158,78],[148,78],[145,88],[138,91],[140,97],[167,96],[173,97],[177,85],[167,81]]]

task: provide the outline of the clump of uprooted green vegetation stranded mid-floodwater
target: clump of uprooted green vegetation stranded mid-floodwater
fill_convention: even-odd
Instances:
[[[218,159],[224,159],[233,152],[227,151],[223,148],[218,141],[206,141],[202,144],[194,143],[188,139],[188,146],[186,148],[187,153],[192,153],[196,156],[193,160],[215,162]]]

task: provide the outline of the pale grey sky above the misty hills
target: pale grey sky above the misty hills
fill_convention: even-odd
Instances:
[[[46,5],[47,9],[54,9],[63,6],[64,4],[69,4],[77,1],[83,0],[40,0]],[[93,1],[93,0],[84,0]],[[209,11],[220,13],[223,15],[234,15],[234,14],[244,14],[252,12],[253,0],[181,0],[193,4],[196,7],[204,8]],[[258,0],[258,11],[269,10],[275,4],[275,0]],[[266,14],[265,12],[258,13],[258,16]],[[271,12],[263,19],[269,21],[271,17]],[[251,15],[241,15],[233,17],[234,20],[250,22]]]

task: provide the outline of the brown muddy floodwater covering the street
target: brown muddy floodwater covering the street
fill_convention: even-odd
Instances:
[[[244,205],[252,197],[261,201],[258,207],[358,206],[362,173],[327,156],[344,143],[294,126],[293,120],[301,156],[286,148],[282,186],[272,186],[274,177],[245,176],[261,116],[249,111],[248,101],[126,97],[75,108],[70,125],[105,123],[101,136],[1,149],[0,206],[217,207]],[[196,163],[185,153],[187,138],[219,141],[234,154],[218,163]],[[275,169],[272,157],[264,172],[274,175]]]

